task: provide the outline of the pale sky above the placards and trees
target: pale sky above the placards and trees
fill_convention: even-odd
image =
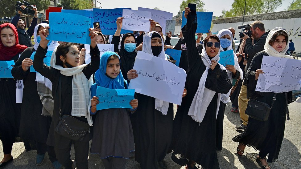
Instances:
[[[144,7],[144,8],[155,8],[158,7],[160,10],[164,10],[167,12],[171,12],[173,16],[176,16],[179,11],[179,6],[182,3],[182,0],[141,0],[141,1],[134,1],[134,0],[96,0],[100,2],[96,2],[96,6],[101,6],[103,9],[113,9],[113,8],[121,8],[121,7],[127,7],[132,8],[132,10],[138,10],[138,7]],[[220,16],[222,10],[230,10],[231,4],[233,0],[215,0],[214,2],[212,0],[202,0],[205,4],[204,8],[207,9],[207,11],[213,11],[214,16]],[[279,6],[278,9],[275,11],[282,11],[284,8],[287,8],[287,6],[292,2],[293,0],[283,0],[282,6]],[[213,2],[213,3],[212,3]]]

